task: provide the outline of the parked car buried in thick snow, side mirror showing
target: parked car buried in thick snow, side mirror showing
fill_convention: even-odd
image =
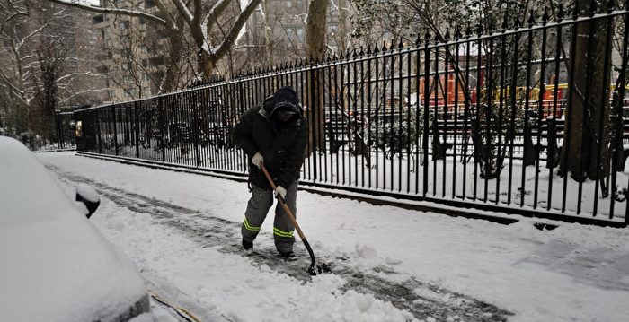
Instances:
[[[85,215],[23,144],[0,136],[0,321],[153,321],[136,266]]]

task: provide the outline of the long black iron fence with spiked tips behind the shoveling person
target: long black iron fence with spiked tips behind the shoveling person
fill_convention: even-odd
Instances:
[[[244,176],[231,129],[291,85],[311,129],[305,185],[625,226],[629,13],[559,14],[76,110],[77,148]]]

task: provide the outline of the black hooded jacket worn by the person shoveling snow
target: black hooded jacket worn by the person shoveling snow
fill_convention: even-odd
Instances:
[[[234,127],[235,144],[242,148],[249,160],[249,182],[267,189],[269,182],[264,173],[253,165],[252,157],[260,152],[264,157],[264,166],[269,170],[275,184],[288,188],[299,178],[299,171],[304,163],[308,142],[308,125],[304,110],[296,106],[296,115],[288,122],[280,122],[270,96],[262,105],[244,112],[240,122]]]

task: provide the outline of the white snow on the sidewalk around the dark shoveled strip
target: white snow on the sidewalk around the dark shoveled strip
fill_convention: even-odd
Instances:
[[[180,207],[176,220],[191,227],[207,227],[208,218],[241,222],[248,199],[245,183],[72,152],[38,157],[68,196],[78,182],[95,185],[102,205],[93,223],[124,249],[150,284],[185,302],[203,320],[438,320],[412,317],[373,294],[346,289],[343,274],[304,282],[243,254],[221,252],[221,245],[199,242],[159,216],[169,205]],[[414,279],[448,290],[418,288],[422,299],[456,306],[461,299],[453,295],[463,293],[509,310],[512,321],[620,322],[629,317],[626,229],[560,223],[553,231],[539,231],[526,219],[501,225],[305,191],[298,193],[297,209],[297,221],[318,257],[347,258],[343,265],[357,272],[384,267],[394,272],[386,276],[392,281]],[[273,249],[271,226],[268,219],[255,248]],[[239,242],[237,230],[225,231]],[[298,241],[296,249],[303,249]],[[167,315],[155,318],[171,321]]]

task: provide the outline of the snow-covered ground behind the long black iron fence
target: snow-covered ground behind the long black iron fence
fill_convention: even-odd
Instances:
[[[153,146],[156,146],[156,142]],[[142,158],[161,161],[161,152],[151,148],[142,148],[140,152]],[[108,150],[105,153],[115,154],[115,151]],[[373,150],[368,163],[363,156],[353,155],[349,147],[343,145],[339,153],[315,153],[307,158],[302,168],[302,179],[338,187],[400,192],[409,196],[423,196],[425,193],[426,196],[464,200],[471,204],[497,204],[541,211],[548,208],[554,213],[625,222],[625,196],[614,199],[614,191],[610,188],[610,196],[604,197],[600,182],[597,184],[588,179],[581,184],[580,190],[579,182],[569,177],[565,178],[564,188],[564,177],[558,175],[558,168],[546,169],[545,161],[540,162],[538,169],[536,166],[523,168],[522,161],[517,159],[504,161],[500,178],[484,179],[480,176],[480,166],[475,165],[474,159],[470,158],[473,152],[466,152],[465,162],[461,158],[462,152],[457,153],[456,160],[448,156],[445,161],[432,161],[430,156],[429,162],[423,164],[421,152],[404,151],[385,155],[384,152]],[[136,149],[133,146],[121,146],[119,154],[135,158]],[[514,155],[521,158],[521,154],[520,151]],[[169,163],[214,170],[238,171],[246,167],[242,152],[209,146],[199,149],[199,164],[196,164],[196,154],[191,145],[186,146],[185,152],[173,148],[165,152],[165,156]],[[424,170],[428,171],[426,178]],[[629,167],[623,172],[614,173],[619,195],[622,195],[624,188],[629,188],[627,173]],[[427,182],[426,189],[423,187],[424,180]],[[610,219],[609,214],[612,212]]]

